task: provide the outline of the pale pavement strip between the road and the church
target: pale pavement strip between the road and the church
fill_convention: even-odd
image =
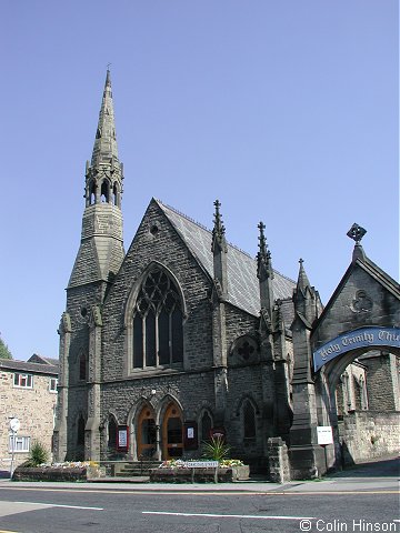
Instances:
[[[400,459],[390,456],[366,462],[311,481],[272,483],[253,477],[234,483],[149,483],[143,479],[102,479],[89,482],[22,482],[0,480],[0,489],[40,489],[73,491],[121,491],[133,493],[253,493],[253,494],[298,494],[298,493],[351,493],[380,492],[399,493]]]

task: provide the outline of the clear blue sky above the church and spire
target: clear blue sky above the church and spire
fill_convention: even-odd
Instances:
[[[58,356],[107,63],[128,249],[156,197],[327,303],[367,255],[399,275],[397,0],[1,0],[0,332]]]

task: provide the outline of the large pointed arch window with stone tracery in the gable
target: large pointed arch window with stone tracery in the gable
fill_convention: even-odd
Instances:
[[[183,361],[182,318],[174,283],[162,270],[151,270],[133,310],[133,369]]]

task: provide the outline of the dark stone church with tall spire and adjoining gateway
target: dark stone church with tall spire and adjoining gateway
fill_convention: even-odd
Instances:
[[[227,242],[219,201],[209,231],[152,199],[126,253],[122,182],[108,71],[59,329],[56,457],[199,456],[202,441],[222,434],[232,456],[254,469],[268,467],[274,440],[289,446],[293,472],[298,465],[298,475],[312,475],[324,464],[317,426],[333,425],[334,464],[343,369],[317,375],[312,354],[338,334],[373,326],[389,328],[394,340],[357,344],[339,360],[356,361],[359,381],[368,363],[358,358],[370,348],[396,360],[398,283],[366,258],[356,235],[349,271],[323,308],[302,261],[296,281],[273,270],[262,222],[256,260]]]

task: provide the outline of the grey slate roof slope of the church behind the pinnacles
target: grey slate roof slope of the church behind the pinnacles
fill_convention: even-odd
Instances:
[[[156,200],[156,202],[186,242],[191,253],[213,279],[212,232],[184,214],[179,213],[173,208],[164,205],[160,200]],[[227,264],[228,301],[258,316],[260,313],[260,289],[257,278],[257,261],[242,250],[228,244]],[[273,272],[272,286],[274,299],[291,300],[296,282],[276,270]],[[289,319],[290,311],[288,306],[286,306],[284,314]]]

